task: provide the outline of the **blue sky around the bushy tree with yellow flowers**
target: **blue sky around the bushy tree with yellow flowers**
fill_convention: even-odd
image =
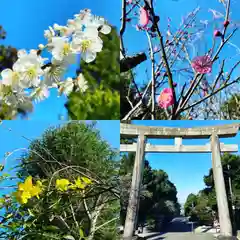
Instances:
[[[2,163],[6,152],[14,151],[19,148],[28,148],[28,139],[36,139],[41,137],[43,132],[51,126],[59,126],[64,124],[64,121],[3,121],[0,125],[0,163]],[[96,128],[100,130],[100,134],[111,147],[119,149],[120,139],[120,124],[119,121],[98,121]],[[9,131],[11,129],[11,131]],[[111,129],[111,131],[109,131]],[[15,152],[7,161],[5,172],[13,173],[12,167],[16,166],[17,158],[23,153],[22,151]],[[3,193],[0,190],[0,195]]]

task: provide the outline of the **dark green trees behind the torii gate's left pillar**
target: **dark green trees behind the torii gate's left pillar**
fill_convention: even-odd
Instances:
[[[128,206],[129,190],[134,164],[134,154],[123,155],[121,158],[121,223],[124,224]],[[147,219],[157,222],[159,216],[165,221],[180,214],[177,201],[177,190],[163,170],[153,170],[145,160],[143,182],[141,187],[138,224],[146,223]]]

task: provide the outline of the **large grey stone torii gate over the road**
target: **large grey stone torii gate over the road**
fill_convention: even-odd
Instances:
[[[221,164],[221,152],[238,152],[237,144],[220,143],[219,138],[237,135],[240,124],[226,124],[212,127],[171,128],[149,127],[121,123],[120,134],[124,138],[137,138],[137,143],[121,144],[120,152],[135,152],[135,163],[124,227],[124,240],[131,240],[135,230],[140,199],[140,186],[145,153],[208,153],[212,155],[212,168],[220,222],[220,234],[232,236],[232,224]],[[175,145],[146,144],[147,138],[175,139]],[[182,139],[209,139],[206,145],[182,145]]]

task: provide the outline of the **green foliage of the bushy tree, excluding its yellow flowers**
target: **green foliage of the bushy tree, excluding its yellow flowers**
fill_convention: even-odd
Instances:
[[[34,208],[21,206],[22,216],[11,221],[15,225],[13,229],[8,228],[8,236],[18,239],[26,235],[22,239],[27,240],[68,239],[64,238],[66,235],[72,236],[69,239],[79,239],[79,235],[89,240],[118,239],[117,152],[102,140],[95,123],[70,122],[48,129],[41,138],[31,142],[21,162],[18,172],[21,179],[31,175],[50,186],[59,178],[73,182],[78,176],[87,176],[94,179],[94,184],[84,195],[77,191],[59,194],[50,190]],[[32,216],[26,222],[28,208]],[[6,214],[12,212],[15,211],[9,208]],[[23,222],[24,228],[16,233],[20,227],[16,224]]]

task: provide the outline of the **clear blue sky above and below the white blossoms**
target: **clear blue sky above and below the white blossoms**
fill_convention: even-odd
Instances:
[[[43,34],[48,26],[65,25],[84,8],[103,16],[119,29],[120,0],[1,0],[0,25],[7,31],[3,43],[18,49],[37,48],[38,44],[46,43]],[[30,119],[56,121],[59,114],[66,114],[64,103],[65,98],[57,98],[53,92],[51,98],[37,104]]]

